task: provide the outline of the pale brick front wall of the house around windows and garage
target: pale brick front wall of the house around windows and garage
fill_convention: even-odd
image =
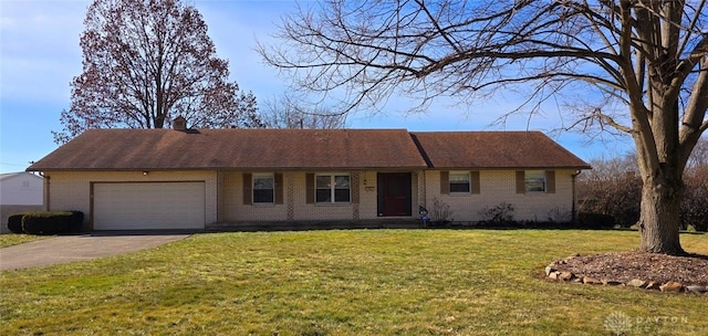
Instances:
[[[282,174],[282,204],[244,204],[243,171],[46,171],[45,206],[48,210],[80,210],[91,219],[91,182],[205,181],[206,222],[375,220],[377,216],[377,171],[271,171]],[[308,172],[346,172],[351,177],[352,200],[358,202],[306,203]],[[412,172],[412,217],[418,217],[418,206],[433,210],[437,199],[450,206],[451,218],[458,222],[482,220],[480,211],[502,202],[513,204],[514,220],[558,219],[570,216],[572,209],[572,175],[574,170],[555,170],[554,193],[517,193],[516,170],[481,170],[480,193],[441,195],[440,171]],[[252,174],[252,172],[249,172]],[[49,183],[49,185],[46,185]]]

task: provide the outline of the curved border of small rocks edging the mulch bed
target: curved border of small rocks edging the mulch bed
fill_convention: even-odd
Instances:
[[[614,281],[610,279],[594,279],[590,276],[583,276],[579,274],[573,274],[570,271],[560,271],[556,267],[558,263],[562,263],[564,260],[571,258],[577,258],[580,254],[571,255],[566,259],[562,259],[559,261],[554,261],[545,266],[545,276],[553,281],[560,282],[569,282],[569,283],[579,283],[579,284],[587,284],[587,285],[606,285],[606,286],[627,286],[642,288],[647,291],[659,291],[665,293],[694,293],[699,295],[708,295],[708,286],[700,285],[691,285],[691,284],[683,284],[676,281],[669,281],[667,283],[659,283],[655,281],[633,279],[626,283],[621,281]]]

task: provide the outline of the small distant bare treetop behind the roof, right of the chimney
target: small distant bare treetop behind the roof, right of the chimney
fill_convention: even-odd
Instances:
[[[345,114],[329,112],[292,93],[266,101],[263,105],[260,117],[268,128],[334,129],[346,123]]]

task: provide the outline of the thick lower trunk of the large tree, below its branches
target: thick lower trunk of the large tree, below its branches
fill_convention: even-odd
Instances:
[[[673,255],[686,253],[678,237],[683,193],[680,180],[645,179],[639,217],[639,251]]]

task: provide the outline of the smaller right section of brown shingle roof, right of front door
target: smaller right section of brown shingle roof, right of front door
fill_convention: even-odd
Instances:
[[[573,168],[590,165],[540,132],[416,132],[431,168]]]

